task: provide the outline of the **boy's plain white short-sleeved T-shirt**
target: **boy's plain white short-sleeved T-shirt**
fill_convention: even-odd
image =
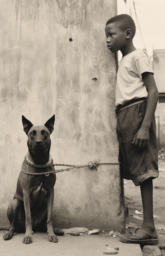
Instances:
[[[121,59],[117,70],[116,106],[132,99],[147,98],[147,89],[142,80],[144,72],[153,73],[150,57],[145,50],[136,49]]]

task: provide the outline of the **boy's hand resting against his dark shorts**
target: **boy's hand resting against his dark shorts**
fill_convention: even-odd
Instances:
[[[132,144],[134,144],[134,149],[138,150],[148,146],[148,141],[149,141],[149,129],[141,127],[134,135]]]

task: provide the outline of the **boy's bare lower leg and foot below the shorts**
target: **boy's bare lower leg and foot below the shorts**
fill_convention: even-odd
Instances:
[[[140,184],[141,197],[143,202],[143,224],[136,230],[134,236],[129,236],[131,240],[141,240],[141,230],[149,233],[153,238],[158,238],[153,218],[153,184],[152,178],[149,178]],[[136,236],[137,235],[137,236]],[[139,236],[138,236],[139,235]]]

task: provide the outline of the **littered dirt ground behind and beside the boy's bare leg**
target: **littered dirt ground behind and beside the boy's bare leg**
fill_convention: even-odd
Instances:
[[[165,152],[159,155],[159,177],[153,180],[153,200],[154,200],[154,222],[159,237],[159,247],[161,253],[165,255]],[[135,211],[143,211],[140,187],[134,186],[130,180],[124,181],[125,201],[128,205],[128,216],[126,225],[128,229],[141,227],[143,214]],[[137,219],[142,218],[142,219]]]

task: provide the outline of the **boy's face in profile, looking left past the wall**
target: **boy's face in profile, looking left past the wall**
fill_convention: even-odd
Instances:
[[[126,31],[122,31],[114,23],[106,25],[107,47],[111,52],[122,51],[126,44]]]

